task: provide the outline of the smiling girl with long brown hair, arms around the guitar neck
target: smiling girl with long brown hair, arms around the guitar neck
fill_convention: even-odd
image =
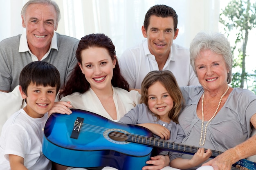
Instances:
[[[151,71],[141,84],[141,104],[132,108],[119,122],[139,124],[156,134],[156,138],[181,143],[184,132],[178,124],[178,116],[182,102],[182,93],[171,71]],[[167,155],[167,151],[161,152],[161,155]],[[204,152],[204,148],[200,148],[192,159],[182,159],[180,154],[174,152],[168,152],[168,155],[171,167],[187,169],[206,161],[211,156],[211,150]]]

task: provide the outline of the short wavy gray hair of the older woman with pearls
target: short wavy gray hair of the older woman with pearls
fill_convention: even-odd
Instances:
[[[232,64],[233,64],[233,55],[231,53],[230,43],[222,33],[207,33],[200,32],[195,35],[195,38],[190,44],[190,64],[195,72],[195,75],[198,77],[195,70],[195,60],[200,55],[201,51],[211,50],[213,53],[222,55],[229,73],[227,73],[227,83],[232,81]]]

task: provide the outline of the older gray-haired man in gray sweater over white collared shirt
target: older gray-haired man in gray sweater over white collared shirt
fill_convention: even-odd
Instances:
[[[61,18],[58,5],[52,0],[29,0],[22,8],[21,18],[26,32],[0,42],[0,91],[12,91],[22,68],[38,60],[56,66],[63,86],[77,64],[79,40],[55,33]]]

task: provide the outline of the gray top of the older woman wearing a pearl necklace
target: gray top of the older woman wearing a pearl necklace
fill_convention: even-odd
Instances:
[[[179,116],[180,126],[185,132],[182,144],[200,147],[202,120],[196,108],[204,90],[202,86],[181,87],[185,106]],[[204,148],[224,152],[241,144],[251,134],[250,119],[256,113],[256,95],[247,89],[234,88],[224,106],[207,126]],[[204,121],[205,124],[208,121]],[[182,155],[190,158],[191,155]],[[199,166],[198,166],[199,167]],[[191,168],[194,170],[196,168]]]

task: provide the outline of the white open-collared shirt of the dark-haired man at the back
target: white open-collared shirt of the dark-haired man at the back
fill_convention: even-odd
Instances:
[[[173,44],[163,70],[171,71],[179,86],[200,85],[189,60],[189,49]],[[124,51],[119,59],[119,64],[130,88],[140,89],[144,77],[150,71],[159,70],[155,56],[148,49],[147,40]]]

